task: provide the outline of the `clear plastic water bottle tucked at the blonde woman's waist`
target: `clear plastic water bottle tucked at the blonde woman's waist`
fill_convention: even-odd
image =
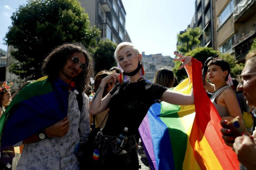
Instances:
[[[128,128],[125,127],[123,129],[123,133],[118,135],[117,139],[115,140],[115,146],[113,148],[113,152],[116,153],[116,154],[123,154],[123,153],[127,153],[126,150],[124,150],[125,148],[125,145],[127,143],[127,131],[128,131]]]

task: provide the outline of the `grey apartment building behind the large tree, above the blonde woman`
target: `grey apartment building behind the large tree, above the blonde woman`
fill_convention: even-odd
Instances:
[[[78,0],[89,15],[90,26],[101,30],[101,39],[131,42],[125,29],[126,11],[121,0]]]

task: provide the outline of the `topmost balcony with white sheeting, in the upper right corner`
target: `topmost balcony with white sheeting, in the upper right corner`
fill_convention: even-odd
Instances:
[[[244,22],[256,11],[256,0],[242,0],[234,8],[234,22]]]

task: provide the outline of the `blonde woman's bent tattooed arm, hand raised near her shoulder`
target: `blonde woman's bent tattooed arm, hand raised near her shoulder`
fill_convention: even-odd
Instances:
[[[90,114],[95,115],[95,114],[101,113],[107,109],[107,107],[109,105],[110,98],[111,98],[111,94],[108,93],[102,99],[102,94],[103,94],[104,88],[107,83],[116,82],[118,79],[119,79],[119,74],[112,73],[111,75],[108,75],[101,80],[101,84],[99,84],[98,90],[94,95],[93,103],[91,104],[91,107],[89,110]]]

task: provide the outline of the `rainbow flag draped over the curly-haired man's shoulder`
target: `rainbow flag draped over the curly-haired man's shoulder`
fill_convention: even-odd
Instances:
[[[22,88],[0,118],[1,153],[64,119],[67,116],[68,96],[68,84],[61,79],[50,83],[47,76]]]

